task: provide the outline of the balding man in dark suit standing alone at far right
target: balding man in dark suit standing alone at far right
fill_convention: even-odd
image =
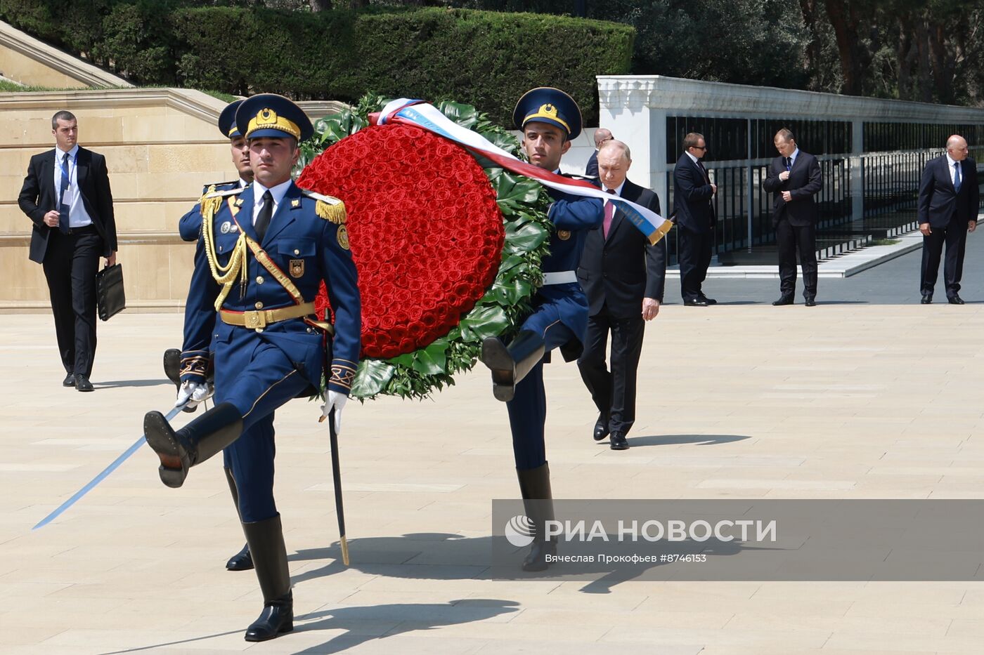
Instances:
[[[977,229],[979,207],[977,163],[967,156],[967,142],[954,134],[947,140],[947,152],[926,163],[919,181],[918,219],[919,231],[923,233],[919,288],[923,305],[933,302],[944,243],[947,244],[947,260],[943,265],[947,298],[952,305],[963,304],[957,293],[963,274],[963,249],[967,232]]]

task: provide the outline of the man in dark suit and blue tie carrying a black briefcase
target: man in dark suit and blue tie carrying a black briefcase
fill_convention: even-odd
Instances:
[[[80,148],[68,111],[51,118],[55,149],[31,157],[18,205],[33,221],[31,262],[44,268],[65,387],[92,391],[95,273],[116,263],[116,220],[106,160]]]

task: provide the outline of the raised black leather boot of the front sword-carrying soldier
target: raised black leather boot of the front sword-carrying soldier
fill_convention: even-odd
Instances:
[[[243,432],[243,419],[231,402],[223,402],[177,432],[160,412],[144,416],[144,436],[160,458],[160,481],[180,487],[188,469],[200,464],[236,441]]]

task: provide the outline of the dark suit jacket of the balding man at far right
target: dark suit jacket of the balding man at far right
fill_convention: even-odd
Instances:
[[[967,157],[960,162],[960,192],[953,190],[947,155],[941,154],[926,162],[919,181],[918,220],[931,227],[947,227],[951,220],[977,220],[980,190],[977,186],[977,162]]]

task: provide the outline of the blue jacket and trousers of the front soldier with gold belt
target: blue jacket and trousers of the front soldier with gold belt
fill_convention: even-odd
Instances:
[[[325,352],[322,331],[313,325],[314,317],[307,322],[297,318],[256,327],[233,326],[222,320],[224,313],[226,318],[238,315],[244,321],[248,317],[262,321],[267,310],[290,307],[295,302],[275,275],[242,244],[242,236],[262,249],[304,300],[313,300],[320,281],[326,280],[336,313],[330,389],[348,393],[360,346],[358,288],[344,223],[319,216],[318,206],[326,207],[328,202],[291,183],[261,241],[253,227],[255,188],[254,184],[241,191],[216,192],[207,199],[222,200],[212,217],[217,267],[228,266],[237,248],[245,266],[238,278],[230,281],[222,312],[217,315],[214,303],[219,285],[208,264],[196,267],[185,310],[186,349],[181,374],[182,382],[203,380],[208,350],[210,346],[215,350],[215,403],[232,403],[243,418],[244,434],[227,450],[244,522],[277,513],[273,499],[273,411],[305,388],[320,387]],[[207,208],[206,213],[211,211]],[[205,241],[203,234],[203,250],[207,249]],[[255,426],[260,430],[250,434]]]

